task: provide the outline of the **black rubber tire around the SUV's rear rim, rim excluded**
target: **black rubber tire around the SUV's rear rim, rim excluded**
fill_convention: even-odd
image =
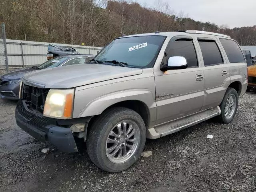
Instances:
[[[227,118],[225,116],[225,112],[224,112],[225,111],[225,104],[226,104],[226,100],[228,99],[228,97],[231,94],[234,94],[234,96],[236,97],[236,108],[235,108],[234,114],[230,118]],[[234,116],[236,115],[237,108],[238,108],[238,93],[234,88],[228,88],[227,91],[226,91],[226,94],[224,95],[224,98],[223,98],[223,100],[220,104],[221,121],[225,124],[228,124],[228,123],[232,122],[234,120]]]

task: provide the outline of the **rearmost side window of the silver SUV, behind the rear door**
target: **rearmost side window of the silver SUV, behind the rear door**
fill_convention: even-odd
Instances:
[[[235,41],[229,39],[220,39],[220,42],[228,56],[230,63],[245,62],[244,55]]]

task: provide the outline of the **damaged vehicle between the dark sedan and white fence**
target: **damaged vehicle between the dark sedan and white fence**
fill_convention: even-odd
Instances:
[[[67,55],[67,54],[79,54],[73,47],[64,47],[58,45],[48,45],[47,60],[52,59],[56,56]]]

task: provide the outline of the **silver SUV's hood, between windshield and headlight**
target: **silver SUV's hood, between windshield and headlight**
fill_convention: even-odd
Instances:
[[[96,82],[133,76],[142,69],[104,64],[78,64],[38,70],[26,74],[22,80],[40,84],[44,88],[73,88]]]

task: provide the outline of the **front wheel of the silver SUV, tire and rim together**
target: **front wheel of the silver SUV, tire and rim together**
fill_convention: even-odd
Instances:
[[[134,110],[115,107],[92,124],[87,151],[92,162],[107,172],[120,172],[134,164],[144,149],[146,127]]]

